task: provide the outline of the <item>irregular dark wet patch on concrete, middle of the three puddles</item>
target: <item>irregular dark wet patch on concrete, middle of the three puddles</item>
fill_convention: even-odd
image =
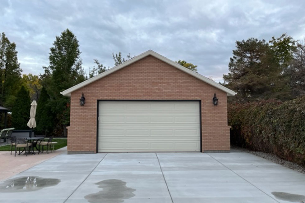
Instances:
[[[99,188],[103,188],[103,190],[86,195],[85,199],[90,203],[120,203],[124,202],[124,199],[136,196],[133,194],[136,189],[126,187],[126,182],[122,180],[108,179],[95,183],[95,185],[98,185]]]

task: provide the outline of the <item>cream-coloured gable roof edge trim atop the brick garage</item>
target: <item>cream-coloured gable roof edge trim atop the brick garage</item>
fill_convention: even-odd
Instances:
[[[234,96],[234,95],[237,94],[233,90],[230,90],[229,88],[226,88],[226,87],[222,86],[221,84],[216,83],[215,81],[210,80],[207,77],[205,77],[205,76],[203,76],[203,75],[201,75],[199,73],[196,73],[196,72],[194,72],[192,70],[189,70],[189,69],[185,68],[184,66],[182,66],[182,65],[180,65],[180,64],[178,64],[178,63],[176,63],[176,62],[174,62],[172,60],[169,60],[168,58],[166,58],[166,57],[164,57],[164,56],[162,56],[162,55],[160,55],[160,54],[158,54],[158,53],[156,53],[156,52],[154,52],[152,50],[148,50],[148,51],[146,51],[144,53],[141,53],[140,55],[135,56],[134,58],[132,58],[132,59],[130,59],[130,60],[120,64],[120,65],[117,65],[117,66],[115,66],[113,68],[110,68],[109,70],[106,70],[105,72],[103,72],[101,74],[98,74],[98,75],[96,75],[96,76],[94,76],[94,77],[92,77],[90,79],[87,79],[84,82],[78,83],[77,85],[74,85],[73,87],[71,87],[69,89],[66,89],[66,90],[64,90],[64,91],[62,91],[60,93],[63,96],[70,97],[71,96],[71,92],[73,92],[73,91],[75,91],[75,90],[77,90],[79,88],[82,88],[82,87],[84,87],[84,86],[86,86],[86,85],[88,85],[90,83],[93,83],[94,81],[96,81],[98,79],[101,79],[101,78],[103,78],[103,77],[105,77],[105,76],[107,76],[109,74],[112,74],[113,72],[115,72],[117,70],[120,70],[120,69],[126,67],[127,65],[130,65],[130,64],[132,64],[132,63],[134,63],[136,61],[139,61],[139,60],[141,60],[142,58],[144,58],[146,56],[154,56],[155,58],[159,59],[160,61],[163,61],[163,62],[165,62],[165,63],[167,63],[167,64],[169,64],[169,65],[171,65],[171,66],[173,66],[175,68],[178,68],[179,70],[182,70],[183,72],[185,72],[187,74],[190,74],[193,77],[195,77],[197,79],[200,79],[203,82],[208,83],[208,84],[210,84],[211,86],[213,86],[215,88],[218,88],[218,89],[220,89],[220,90],[222,90],[224,92],[227,92],[228,96]]]

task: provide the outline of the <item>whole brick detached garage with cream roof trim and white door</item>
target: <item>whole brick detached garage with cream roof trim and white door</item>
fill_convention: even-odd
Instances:
[[[61,93],[71,97],[70,154],[230,150],[236,93],[151,50]]]

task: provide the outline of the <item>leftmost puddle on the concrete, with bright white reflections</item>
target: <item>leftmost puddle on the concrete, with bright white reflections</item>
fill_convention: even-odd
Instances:
[[[31,192],[57,185],[60,179],[25,176],[8,179],[0,184],[0,192]]]

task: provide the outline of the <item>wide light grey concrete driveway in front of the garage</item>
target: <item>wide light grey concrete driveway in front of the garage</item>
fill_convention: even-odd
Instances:
[[[304,188],[305,174],[246,152],[61,154],[0,182],[0,200],[305,202]]]

